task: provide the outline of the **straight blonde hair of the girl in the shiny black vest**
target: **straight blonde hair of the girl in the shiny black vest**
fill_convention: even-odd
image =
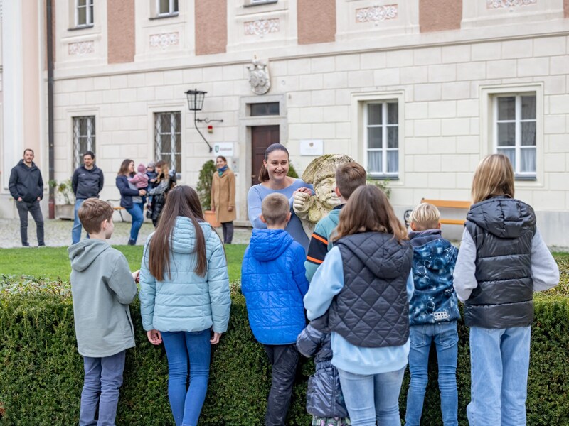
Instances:
[[[482,158],[474,172],[471,195],[474,204],[498,195],[514,197],[514,169],[506,155]]]

